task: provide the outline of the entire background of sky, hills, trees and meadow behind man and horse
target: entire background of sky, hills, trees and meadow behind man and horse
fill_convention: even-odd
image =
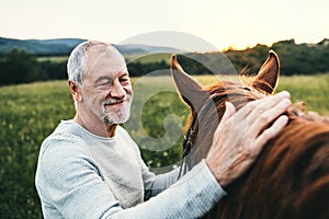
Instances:
[[[143,92],[135,93],[143,108],[123,126],[155,172],[179,165],[190,113],[172,90],[172,53],[206,85],[225,74],[253,77],[274,49],[281,60],[277,91],[288,90],[293,101],[329,115],[328,1],[0,2],[1,218],[42,218],[34,187],[38,150],[61,119],[75,115],[66,62],[86,39],[114,44],[128,64],[135,90],[154,91],[145,100],[138,97]],[[146,139],[168,136],[163,123],[171,114],[179,136],[168,140],[170,147],[154,149],[155,142]]]

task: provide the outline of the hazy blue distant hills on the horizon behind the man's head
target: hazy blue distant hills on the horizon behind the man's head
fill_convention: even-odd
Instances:
[[[81,42],[81,38],[57,39],[13,39],[0,37],[0,55],[11,51],[13,48],[24,49],[37,56],[68,55]],[[147,55],[152,53],[179,53],[181,50],[170,47],[147,45],[115,45],[123,55]]]

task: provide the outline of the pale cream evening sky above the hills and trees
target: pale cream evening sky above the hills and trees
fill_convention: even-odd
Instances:
[[[18,39],[86,38],[122,44],[148,33],[160,36],[169,32],[194,36],[222,50],[257,44],[271,46],[292,38],[296,43],[329,38],[328,0],[0,0],[0,36]],[[149,36],[144,39],[154,38]],[[179,44],[189,42],[185,38]],[[191,41],[190,46],[200,42]]]

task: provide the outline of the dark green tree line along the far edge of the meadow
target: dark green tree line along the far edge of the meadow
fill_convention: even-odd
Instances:
[[[231,68],[238,72],[254,74],[266,59],[270,49],[277,53],[283,76],[329,72],[329,39],[311,45],[297,45],[294,39],[291,39],[274,43],[271,47],[257,45],[243,50],[227,49],[223,53],[182,54],[178,58],[186,72],[191,74],[225,74]],[[223,57],[227,57],[230,62]],[[66,60],[52,61],[37,58],[37,55],[18,48],[4,54],[0,57],[0,85],[67,79]],[[151,71],[170,68],[169,58],[156,61],[136,59],[127,61],[127,64],[132,77],[140,77]],[[214,70],[219,72],[214,72]]]

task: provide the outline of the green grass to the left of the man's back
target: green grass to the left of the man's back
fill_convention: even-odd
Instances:
[[[34,188],[39,145],[61,118],[73,114],[66,82],[0,88],[0,215],[41,218]]]

